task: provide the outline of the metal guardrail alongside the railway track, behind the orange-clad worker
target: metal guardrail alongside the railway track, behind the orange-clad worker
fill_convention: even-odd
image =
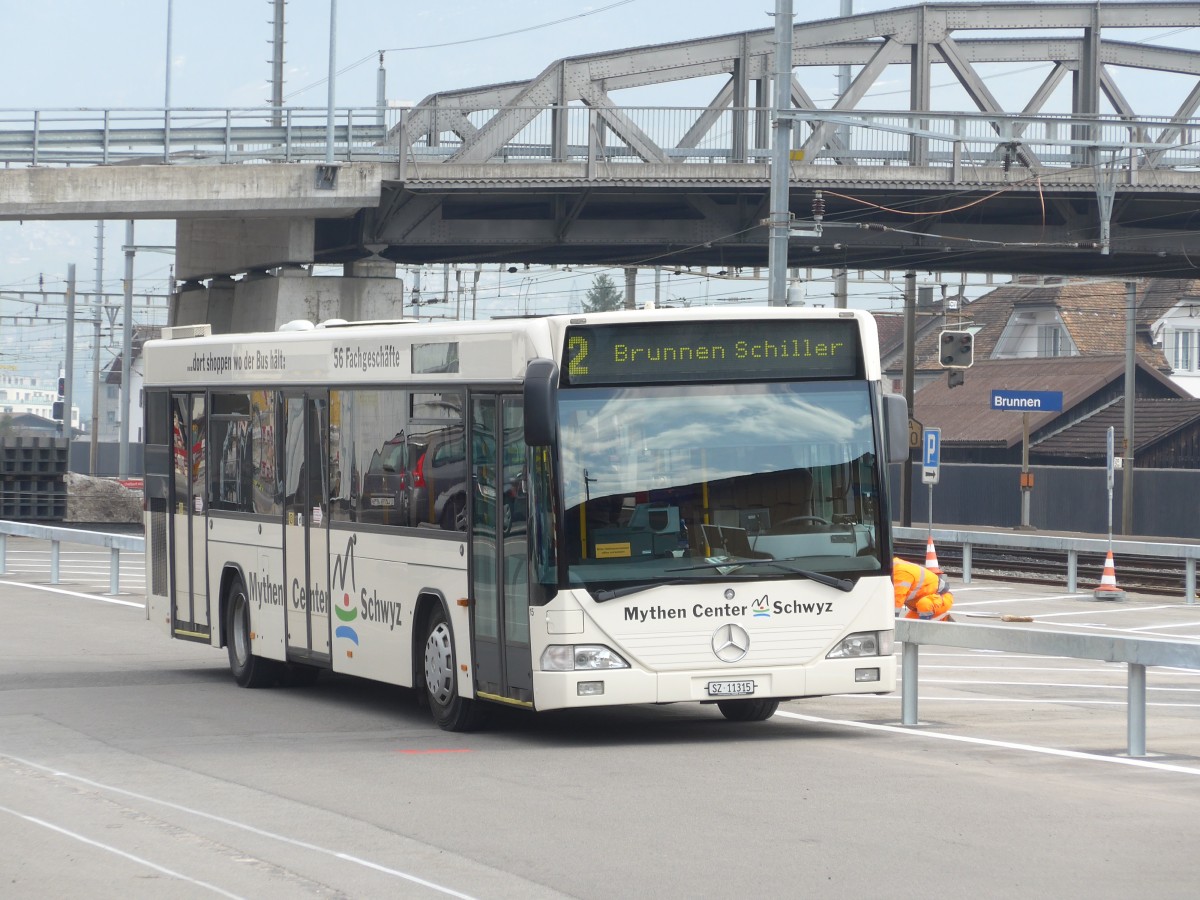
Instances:
[[[1184,563],[1184,595],[1188,605],[1196,601],[1196,560],[1200,559],[1200,544],[1145,544],[1114,540],[1106,538],[1078,538],[1064,534],[1038,534],[1036,532],[971,532],[956,528],[901,528],[893,527],[892,534],[901,540],[924,540],[932,534],[935,544],[958,544],[962,547],[962,583],[971,583],[971,548],[1009,547],[1015,550],[1061,551],[1067,557],[1067,590],[1079,589],[1079,554],[1105,553],[1112,550],[1115,556],[1165,557],[1182,559]]]

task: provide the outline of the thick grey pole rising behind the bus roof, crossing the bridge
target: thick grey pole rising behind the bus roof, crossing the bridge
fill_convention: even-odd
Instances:
[[[787,245],[792,215],[792,0],[775,0],[775,126],[770,148],[770,228],[767,245],[767,305],[787,306]]]

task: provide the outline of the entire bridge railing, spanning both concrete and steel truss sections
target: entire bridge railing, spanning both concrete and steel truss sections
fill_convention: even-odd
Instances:
[[[989,173],[1200,169],[1200,120],[907,110],[793,110],[793,162]],[[320,162],[324,108],[0,110],[0,164]],[[407,163],[756,163],[773,112],[749,107],[344,108],[334,158]]]

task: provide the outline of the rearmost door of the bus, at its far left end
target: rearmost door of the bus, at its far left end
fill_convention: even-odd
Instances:
[[[172,632],[208,641],[209,602],[204,484],[206,420],[203,394],[170,397],[173,470],[170,487]]]

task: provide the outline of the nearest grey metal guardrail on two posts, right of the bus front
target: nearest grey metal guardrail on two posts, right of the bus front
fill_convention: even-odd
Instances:
[[[896,619],[901,653],[901,718],[917,724],[919,646],[961,647],[1039,656],[1124,662],[1127,667],[1127,752],[1146,755],[1146,666],[1200,668],[1200,642],[1164,641],[1153,637],[1081,635],[1020,625],[968,625],[954,622]]]

